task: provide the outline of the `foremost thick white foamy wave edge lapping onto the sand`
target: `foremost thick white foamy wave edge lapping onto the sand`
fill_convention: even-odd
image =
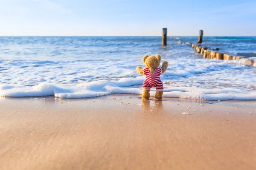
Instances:
[[[0,85],[0,96],[36,97],[55,96],[59,98],[89,98],[109,94],[141,94],[144,79],[121,79],[118,81],[95,81],[79,85],[58,85],[41,83],[35,86]],[[151,96],[154,96],[154,89]],[[198,100],[256,100],[256,91],[245,91],[235,88],[206,89],[174,87],[164,90],[163,97],[175,97]]]

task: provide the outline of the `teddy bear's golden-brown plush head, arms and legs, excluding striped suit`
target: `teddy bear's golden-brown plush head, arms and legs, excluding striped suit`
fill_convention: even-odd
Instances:
[[[149,56],[149,55],[145,55],[143,57],[143,62],[145,63],[146,67],[149,69],[149,72],[150,74],[153,74],[154,73],[154,70],[156,68],[159,67],[160,65],[160,62],[161,62],[161,56],[159,54],[157,55],[152,55],[152,56]],[[162,68],[162,74],[164,72],[166,72],[167,70],[167,67],[168,67],[168,62],[167,61],[164,61],[161,68]],[[144,72],[144,69],[140,66],[137,66],[136,68],[137,72],[140,73],[140,74],[143,74]],[[150,90],[143,90],[143,94],[142,94],[142,98],[143,99],[149,99],[150,97],[150,94],[149,94],[149,91]],[[163,96],[163,91],[158,91],[156,94],[155,94],[155,99],[157,100],[161,100],[162,99],[162,96]]]

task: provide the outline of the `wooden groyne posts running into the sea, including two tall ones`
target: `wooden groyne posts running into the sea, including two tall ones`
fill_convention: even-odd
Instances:
[[[167,45],[167,28],[162,29],[162,45]],[[191,45],[198,54],[202,54],[205,59],[226,59],[226,60],[235,60],[235,59],[244,59],[244,64],[248,66],[256,65],[256,60],[247,59],[246,57],[234,56],[230,54],[224,54],[218,52],[218,48],[210,49],[208,47],[202,47],[201,43],[203,41],[203,30],[199,31],[199,38],[197,44],[192,44],[190,42],[177,42],[178,44],[187,44]]]

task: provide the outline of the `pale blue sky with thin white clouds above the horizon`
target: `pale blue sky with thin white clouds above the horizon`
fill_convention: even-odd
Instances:
[[[0,36],[256,36],[256,0],[0,0]]]

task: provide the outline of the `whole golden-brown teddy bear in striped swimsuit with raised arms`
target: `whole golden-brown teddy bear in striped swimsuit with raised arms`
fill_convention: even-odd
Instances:
[[[160,79],[160,75],[163,74],[168,67],[168,62],[164,61],[162,66],[159,67],[161,62],[161,56],[159,54],[156,55],[145,55],[143,57],[143,62],[146,67],[142,68],[137,66],[136,70],[139,74],[143,74],[146,76],[146,79],[143,82],[143,99],[149,99],[150,97],[150,89],[155,87],[157,89],[154,98],[156,100],[161,100],[163,96],[163,82]]]

